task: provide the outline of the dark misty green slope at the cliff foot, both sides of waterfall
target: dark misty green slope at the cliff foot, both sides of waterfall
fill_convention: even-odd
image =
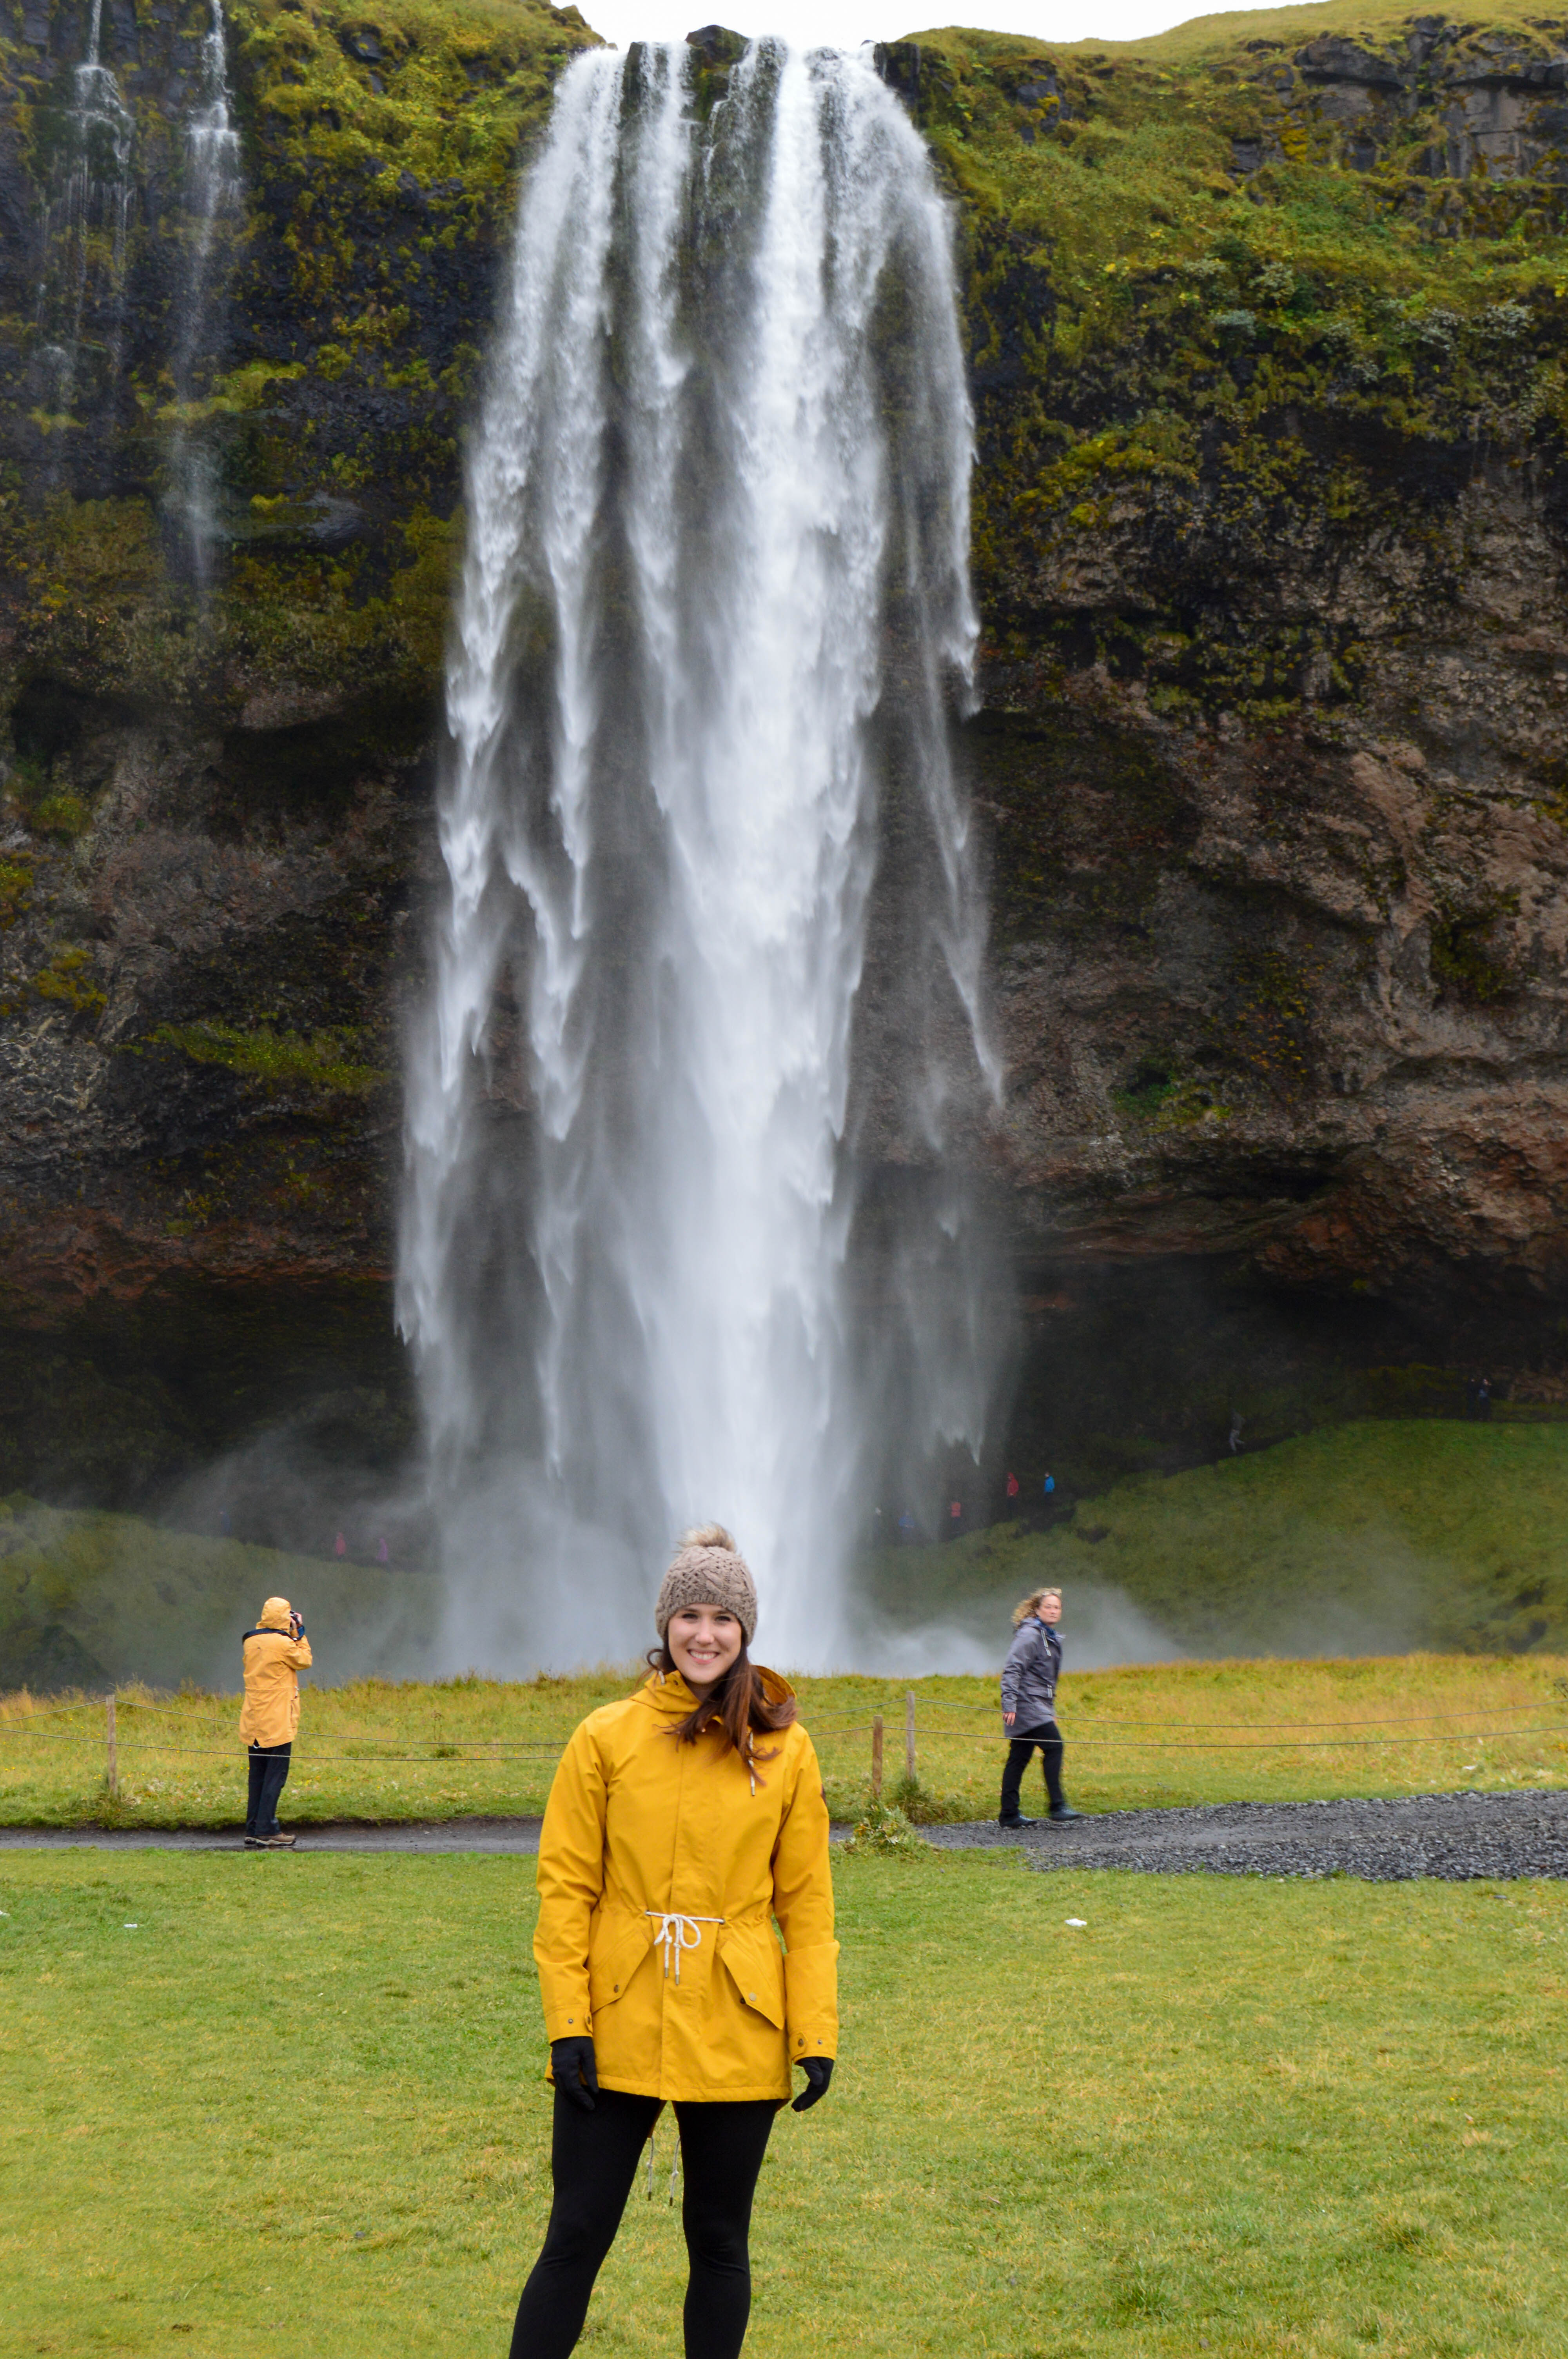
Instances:
[[[981,1661],[1000,1661],[1007,1609],[1040,1581],[1073,1590],[1078,1663],[1568,1651],[1563,1533],[1568,1425],[1370,1418],[1184,1474],[1127,1477],[1047,1533],[1000,1526],[887,1550],[865,1566],[858,1654],[875,1661],[884,1628],[936,1623],[967,1635],[969,1658],[979,1640]],[[229,1687],[238,1632],[274,1592],[307,1606],[323,1680],[429,1663],[439,1585],[427,1576],[12,1498],[0,1503],[0,1691]]]

